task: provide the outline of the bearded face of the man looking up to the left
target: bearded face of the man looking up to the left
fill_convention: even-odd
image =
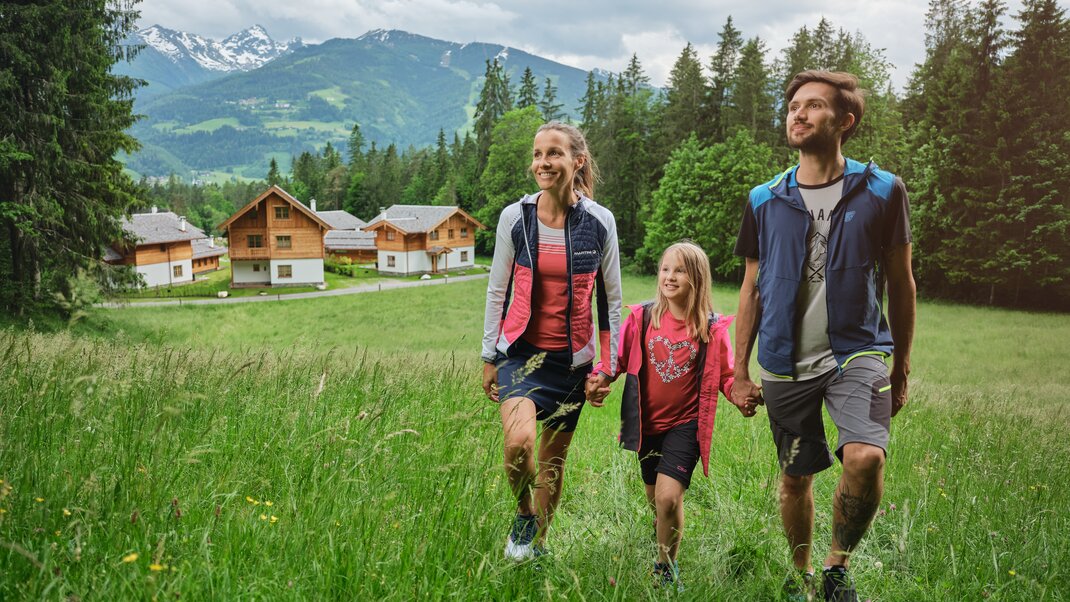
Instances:
[[[829,152],[840,148],[840,135],[852,118],[838,119],[836,88],[811,81],[795,92],[788,103],[788,145],[802,152]]]

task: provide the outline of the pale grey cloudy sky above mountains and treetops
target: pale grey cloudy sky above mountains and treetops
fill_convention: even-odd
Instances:
[[[1070,0],[1067,0],[1070,1]],[[1009,0],[1006,26],[1021,0]],[[1060,2],[1066,4],[1066,2]],[[896,66],[902,88],[924,57],[926,0],[146,0],[141,27],[154,24],[220,40],[260,24],[276,40],[307,43],[356,37],[371,29],[400,29],[450,42],[503,44],[584,70],[623,71],[638,53],[655,84],[691,42],[703,63],[714,53],[728,15],[745,37],[779,52],[802,26],[822,16],[861,34]]]

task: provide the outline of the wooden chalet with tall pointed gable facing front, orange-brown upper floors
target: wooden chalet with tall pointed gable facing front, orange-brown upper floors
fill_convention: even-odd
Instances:
[[[278,186],[218,229],[229,242],[231,287],[323,283],[323,237],[331,225]]]

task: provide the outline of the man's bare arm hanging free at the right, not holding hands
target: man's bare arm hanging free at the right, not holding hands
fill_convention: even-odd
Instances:
[[[906,405],[906,377],[911,373],[911,345],[917,314],[917,289],[911,269],[911,244],[892,247],[885,253],[888,278],[888,325],[896,345],[891,356],[891,415]],[[738,328],[738,326],[737,326]]]

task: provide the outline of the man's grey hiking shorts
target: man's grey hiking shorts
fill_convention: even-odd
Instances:
[[[881,356],[856,357],[842,371],[835,368],[808,381],[763,379],[762,395],[780,467],[789,475],[813,475],[832,465],[821,415],[822,399],[839,431],[836,456],[841,461],[843,446],[849,443],[888,450],[891,382]]]

